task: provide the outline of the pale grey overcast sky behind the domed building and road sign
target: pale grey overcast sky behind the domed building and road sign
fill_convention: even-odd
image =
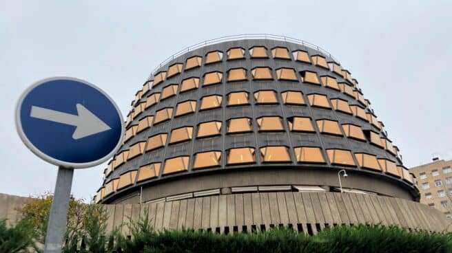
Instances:
[[[1,1],[0,192],[53,190],[56,167],[22,144],[21,92],[50,76],[101,87],[123,115],[152,69],[189,45],[269,33],[325,48],[358,79],[404,164],[452,158],[452,1]],[[321,3],[320,3],[321,2]],[[76,170],[89,199],[106,164]]]

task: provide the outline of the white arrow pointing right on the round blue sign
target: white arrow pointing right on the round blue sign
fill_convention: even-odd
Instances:
[[[74,140],[112,129],[101,119],[97,118],[91,111],[88,111],[88,109],[83,107],[82,104],[76,104],[76,108],[78,115],[62,113],[61,111],[35,107],[33,105],[30,117],[76,126],[77,128],[75,129],[74,134],[72,134]]]

